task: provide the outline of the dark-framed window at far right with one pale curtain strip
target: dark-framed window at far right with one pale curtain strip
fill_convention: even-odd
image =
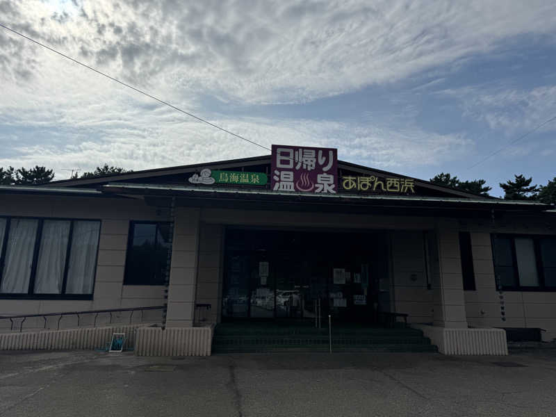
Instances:
[[[497,285],[505,290],[556,291],[556,236],[492,236]]]

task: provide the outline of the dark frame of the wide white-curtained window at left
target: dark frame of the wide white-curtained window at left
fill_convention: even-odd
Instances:
[[[0,252],[0,282],[3,278],[3,269],[6,263],[6,251],[8,249],[8,237],[10,234],[10,223],[12,219],[38,220],[37,231],[35,232],[35,247],[33,247],[33,261],[31,263],[31,276],[27,293],[0,293],[0,300],[93,300],[95,295],[95,281],[97,279],[97,263],[99,261],[99,247],[101,236],[101,219],[84,219],[84,218],[55,218],[55,217],[35,217],[24,215],[0,215],[0,219],[6,219],[6,229],[4,230],[3,245]],[[37,264],[40,252],[40,242],[42,240],[42,226],[44,220],[58,220],[70,222],[70,231],[67,235],[67,248],[64,261],[64,275],[62,281],[62,289],[60,294],[35,294],[35,277],[37,273]],[[99,222],[99,238],[97,240],[97,253],[95,254],[95,269],[92,272],[92,292],[90,294],[65,294],[67,284],[67,271],[70,264],[70,254],[72,246],[72,237],[74,222]]]

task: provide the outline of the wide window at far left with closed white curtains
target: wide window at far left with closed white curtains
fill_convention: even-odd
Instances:
[[[100,222],[0,218],[0,297],[90,298]]]

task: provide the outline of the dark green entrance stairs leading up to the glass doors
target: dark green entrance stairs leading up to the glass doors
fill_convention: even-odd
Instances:
[[[329,352],[328,327],[310,322],[233,322],[214,329],[213,354]],[[438,352],[429,338],[408,327],[337,324],[332,352]]]

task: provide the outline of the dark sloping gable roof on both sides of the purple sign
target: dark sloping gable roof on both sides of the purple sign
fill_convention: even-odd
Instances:
[[[142,170],[134,172],[124,172],[122,174],[111,174],[105,175],[103,177],[95,177],[88,179],[64,179],[60,181],[51,181],[45,183],[45,187],[85,187],[85,188],[95,188],[103,186],[108,183],[126,183],[126,182],[150,182],[156,183],[156,178],[177,176],[180,174],[188,174],[198,172],[202,168],[210,168],[212,170],[229,170],[237,169],[239,167],[248,168],[254,165],[269,165],[270,171],[270,155],[254,156],[252,158],[239,158],[230,159],[226,161],[215,161],[208,163],[195,163],[190,165],[179,165],[174,167],[164,167],[156,168],[153,170]],[[357,165],[354,163],[346,161],[338,161],[338,170],[354,172],[366,175],[375,175],[377,177],[393,177],[393,178],[412,178],[416,183],[417,188],[425,188],[430,190],[430,192],[451,196],[451,197],[464,197],[472,199],[487,199],[489,197],[484,197],[482,195],[476,195],[473,193],[465,193],[463,191],[454,190],[453,188],[439,186],[431,183],[430,181],[425,181],[423,179],[418,179],[414,177],[407,177],[402,174],[396,174],[395,172],[389,172],[384,170],[377,170],[375,168],[366,167],[363,165]],[[145,181],[149,179],[149,181]],[[161,181],[163,183],[164,181]]]

